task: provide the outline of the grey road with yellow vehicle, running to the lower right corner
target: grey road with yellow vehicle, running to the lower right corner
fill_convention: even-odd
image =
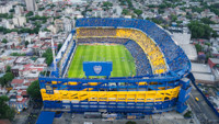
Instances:
[[[198,98],[197,102],[195,98]],[[196,114],[197,119],[201,124],[218,124],[219,117],[215,114],[212,109],[207,104],[203,95],[193,86],[191,91],[191,98],[187,103],[192,108],[193,112]]]

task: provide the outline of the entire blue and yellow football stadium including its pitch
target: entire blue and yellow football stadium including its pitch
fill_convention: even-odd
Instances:
[[[184,112],[191,61],[159,25],[135,19],[78,19],[39,76],[45,111]]]

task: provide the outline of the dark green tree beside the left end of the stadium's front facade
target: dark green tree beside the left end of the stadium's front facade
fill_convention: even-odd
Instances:
[[[41,88],[39,88],[39,82],[38,80],[36,81],[33,81],[31,83],[31,86],[27,88],[27,93],[31,98],[33,99],[42,99],[42,95],[41,95]]]

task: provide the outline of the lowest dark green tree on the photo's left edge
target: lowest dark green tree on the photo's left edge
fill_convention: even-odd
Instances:
[[[14,117],[15,112],[7,104],[9,98],[7,95],[0,97],[0,119],[12,120]]]

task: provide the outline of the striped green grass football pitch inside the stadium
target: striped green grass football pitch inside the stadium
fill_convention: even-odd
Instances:
[[[68,71],[69,78],[85,77],[83,61],[113,61],[111,77],[136,76],[135,59],[124,45],[79,45]]]

